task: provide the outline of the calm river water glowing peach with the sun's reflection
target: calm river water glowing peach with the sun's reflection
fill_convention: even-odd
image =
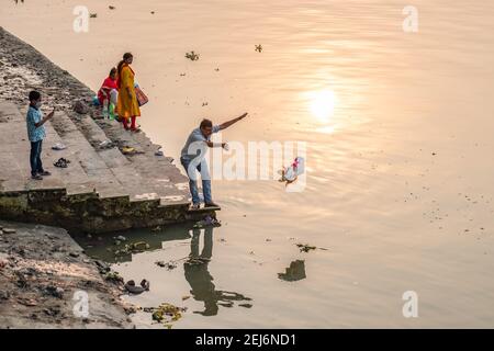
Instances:
[[[124,233],[150,246],[113,265],[151,282],[128,301],[188,307],[173,328],[494,325],[493,2],[416,0],[417,32],[403,1],[82,2],[1,0],[0,25],[93,89],[131,50],[142,127],[176,159],[204,116],[249,112],[222,135],[240,145],[306,143],[303,191],[215,180],[222,227]]]

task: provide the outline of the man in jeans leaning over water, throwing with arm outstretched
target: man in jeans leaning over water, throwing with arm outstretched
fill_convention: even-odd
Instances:
[[[195,170],[201,173],[204,207],[218,207],[218,205],[213,202],[211,195],[211,177],[207,170],[207,163],[204,159],[205,150],[207,149],[207,147],[226,148],[226,143],[211,141],[211,135],[229,127],[232,124],[244,120],[246,116],[247,113],[244,113],[239,117],[214,126],[213,122],[204,118],[202,120],[199,128],[193,129],[187,138],[186,145],[183,146],[181,151],[180,162],[182,163],[183,168],[186,169],[187,176],[189,177],[190,194],[192,195],[191,210],[199,210],[201,203],[197,181],[198,174]]]

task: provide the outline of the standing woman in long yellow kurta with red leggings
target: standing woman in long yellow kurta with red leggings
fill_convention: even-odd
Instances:
[[[126,53],[116,67],[119,87],[116,113],[122,120],[123,126],[126,131],[138,132],[139,129],[136,126],[136,117],[141,116],[141,110],[137,102],[137,97],[135,94],[135,72],[131,68],[134,56],[131,53]],[[131,121],[130,127],[128,121]]]

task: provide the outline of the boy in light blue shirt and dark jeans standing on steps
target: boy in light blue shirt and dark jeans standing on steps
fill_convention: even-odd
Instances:
[[[43,177],[50,176],[48,171],[43,169],[43,162],[41,159],[43,139],[46,137],[45,127],[46,122],[53,118],[55,109],[46,116],[43,117],[41,112],[42,99],[38,91],[30,92],[30,109],[27,110],[26,124],[27,124],[27,137],[31,141],[31,178],[34,180],[43,180]]]

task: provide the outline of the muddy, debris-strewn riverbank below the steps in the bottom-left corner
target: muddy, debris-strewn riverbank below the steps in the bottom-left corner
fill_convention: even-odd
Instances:
[[[61,228],[0,220],[0,328],[132,328],[106,271]]]

